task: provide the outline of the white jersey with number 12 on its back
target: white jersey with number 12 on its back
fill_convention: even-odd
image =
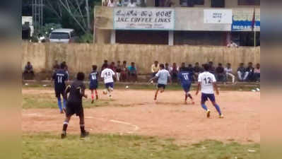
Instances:
[[[213,94],[213,83],[216,82],[216,77],[212,73],[208,71],[200,73],[198,82],[201,83],[201,93]]]

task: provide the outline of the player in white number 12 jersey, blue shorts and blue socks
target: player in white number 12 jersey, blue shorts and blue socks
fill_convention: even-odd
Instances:
[[[213,88],[216,90],[216,94],[218,95],[218,87],[216,85],[216,77],[209,73],[210,66],[208,64],[204,64],[205,71],[203,73],[199,74],[198,77],[198,88],[196,90],[196,95],[199,93],[199,89],[201,87],[201,107],[206,110],[206,117],[211,116],[211,111],[208,110],[208,108],[205,105],[205,102],[209,99],[213,103],[213,106],[216,107],[216,110],[218,111],[219,117],[223,118],[223,114],[221,114],[221,108],[216,104],[216,98],[213,93]]]

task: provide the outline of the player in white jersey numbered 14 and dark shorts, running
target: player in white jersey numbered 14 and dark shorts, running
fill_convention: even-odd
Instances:
[[[114,90],[114,77],[115,73],[112,69],[109,69],[109,65],[106,69],[102,70],[101,78],[104,79],[106,90],[104,90],[105,94],[109,94],[109,97],[112,98],[111,92]]]

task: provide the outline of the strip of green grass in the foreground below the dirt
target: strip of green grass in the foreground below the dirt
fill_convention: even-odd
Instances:
[[[61,140],[53,134],[23,135],[23,159],[256,159],[260,158],[259,144],[241,145],[203,141],[176,145],[173,140],[145,136],[94,134],[86,139],[69,135]],[[254,152],[249,152],[252,150]]]

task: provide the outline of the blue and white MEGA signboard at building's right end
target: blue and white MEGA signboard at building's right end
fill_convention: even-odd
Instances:
[[[233,31],[252,31],[254,13],[238,12],[233,16],[232,30]],[[256,15],[254,28],[260,31],[261,20],[260,15]]]

